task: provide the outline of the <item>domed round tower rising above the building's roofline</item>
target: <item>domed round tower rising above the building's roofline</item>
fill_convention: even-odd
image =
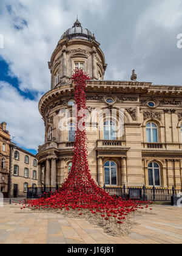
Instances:
[[[69,84],[73,69],[83,68],[92,79],[104,79],[106,63],[94,34],[78,20],[61,36],[49,62],[51,88]]]

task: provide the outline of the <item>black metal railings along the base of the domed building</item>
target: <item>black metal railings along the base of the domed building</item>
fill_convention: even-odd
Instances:
[[[59,187],[29,187],[27,190],[27,198],[40,198],[50,197],[55,193]],[[155,202],[171,202],[172,196],[177,196],[182,192],[174,187],[170,188],[157,188],[151,187],[106,187],[104,190],[110,196],[120,196],[123,199],[138,199],[141,201],[155,201]]]

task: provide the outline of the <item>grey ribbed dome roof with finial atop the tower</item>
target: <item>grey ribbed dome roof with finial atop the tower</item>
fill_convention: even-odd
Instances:
[[[64,36],[66,36],[68,40],[72,38],[82,38],[91,41],[93,38],[90,30],[83,29],[78,19],[75,21],[73,27],[67,29],[66,32],[61,36],[61,40],[64,38]]]

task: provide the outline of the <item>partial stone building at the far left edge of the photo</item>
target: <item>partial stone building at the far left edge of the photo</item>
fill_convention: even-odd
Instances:
[[[10,134],[6,129],[7,124],[0,124],[0,192],[8,196],[9,166],[10,166]]]

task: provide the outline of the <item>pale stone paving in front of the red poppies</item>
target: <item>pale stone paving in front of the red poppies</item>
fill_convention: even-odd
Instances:
[[[182,207],[153,205],[155,215],[135,216],[127,236],[113,237],[83,219],[52,213],[23,212],[19,205],[0,207],[0,244],[181,244]]]

